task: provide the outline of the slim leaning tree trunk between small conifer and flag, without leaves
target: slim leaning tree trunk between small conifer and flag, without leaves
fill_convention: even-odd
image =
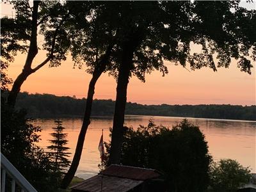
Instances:
[[[104,70],[106,70],[106,66],[107,66],[107,63],[109,60],[109,56],[111,54],[112,47],[113,47],[113,45],[109,45],[108,50],[106,51],[106,54],[104,54],[102,60],[99,61],[98,67],[95,67],[95,70],[93,71],[93,76],[90,81],[88,93],[87,93],[83,125],[81,127],[81,131],[79,133],[78,140],[77,140],[76,152],[74,154],[74,157],[73,157],[73,160],[72,160],[72,163],[70,165],[68,172],[66,173],[65,177],[61,181],[62,189],[67,189],[67,187],[70,184],[71,180],[73,179],[73,177],[76,173],[77,167],[79,165],[79,161],[81,159],[81,154],[83,151],[84,138],[85,138],[88,126],[90,125],[90,116],[91,116],[91,112],[92,112],[92,102],[93,102],[95,84],[97,83],[97,80],[101,76],[102,72],[104,72]]]

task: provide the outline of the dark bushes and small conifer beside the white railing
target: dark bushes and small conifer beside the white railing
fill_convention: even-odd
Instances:
[[[36,145],[42,129],[32,122],[26,118],[26,109],[10,108],[1,98],[1,153],[37,191],[60,191],[60,181],[69,165],[67,134],[62,132],[65,128],[56,121],[46,152]],[[11,181],[6,178],[6,191],[11,191]]]

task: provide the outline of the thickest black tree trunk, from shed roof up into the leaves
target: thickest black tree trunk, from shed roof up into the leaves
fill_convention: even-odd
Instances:
[[[122,60],[118,69],[115,113],[108,164],[120,164],[121,161],[127,86],[133,67],[133,54],[145,37],[145,34],[141,33],[144,29],[146,28],[134,28],[131,33],[127,35],[127,40],[122,45]]]

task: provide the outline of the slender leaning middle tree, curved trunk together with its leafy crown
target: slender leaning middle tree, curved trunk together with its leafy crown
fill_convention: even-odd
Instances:
[[[90,7],[89,12],[84,12],[84,6]],[[86,107],[83,117],[83,124],[77,140],[76,151],[72,160],[72,164],[62,180],[61,188],[67,188],[74,177],[79,161],[81,158],[84,138],[88,125],[90,124],[90,115],[92,113],[92,102],[95,90],[95,84],[111,60],[111,53],[115,46],[116,29],[109,23],[102,20],[100,15],[100,6],[97,3],[76,2],[67,3],[67,6],[76,6],[76,12],[73,13],[76,22],[72,22],[70,30],[74,39],[71,42],[72,58],[76,62],[75,65],[81,67],[83,63],[88,67],[87,72],[92,74],[92,79],[88,86],[86,99]],[[110,17],[111,12],[108,13]],[[106,16],[106,15],[105,15]],[[90,19],[84,19],[90,17]],[[77,23],[78,21],[78,23]],[[75,28],[75,30],[74,30]]]

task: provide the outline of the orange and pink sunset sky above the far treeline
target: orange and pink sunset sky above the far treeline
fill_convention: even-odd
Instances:
[[[12,14],[12,11],[1,4],[1,13],[3,16],[3,14]],[[38,44],[42,42],[38,41]],[[40,63],[44,58],[44,52],[39,52],[34,63]],[[15,58],[15,62],[8,68],[9,77],[15,79],[18,76],[25,59],[26,55],[21,54]],[[218,72],[213,72],[209,68],[189,72],[167,61],[166,66],[169,74],[165,77],[157,71],[148,74],[145,83],[132,77],[127,101],[140,104],[256,104],[255,63],[251,75],[241,72],[237,68],[236,60],[232,60],[229,68],[219,68]],[[73,68],[70,57],[57,68],[49,68],[45,65],[28,77],[21,91],[86,97],[91,76],[84,72],[84,69]],[[115,100],[115,89],[115,79],[104,74],[96,85],[95,99]]]

